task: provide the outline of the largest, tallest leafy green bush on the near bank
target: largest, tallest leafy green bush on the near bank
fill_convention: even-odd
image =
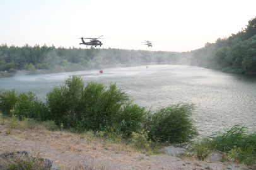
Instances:
[[[107,89],[103,84],[88,82],[84,86],[79,76],[69,76],[64,85],[54,88],[47,94],[47,106],[51,119],[64,128],[107,130],[112,124],[114,115],[128,100],[127,94],[110,84]],[[117,123],[118,124],[118,123]]]

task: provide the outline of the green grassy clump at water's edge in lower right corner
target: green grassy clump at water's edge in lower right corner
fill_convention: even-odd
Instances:
[[[235,125],[197,141],[191,150],[195,157],[203,160],[215,149],[224,152],[223,161],[252,165],[256,161],[256,133],[248,134],[247,127]]]

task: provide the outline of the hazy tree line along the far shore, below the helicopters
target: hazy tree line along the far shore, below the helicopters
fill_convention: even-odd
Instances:
[[[146,64],[190,64],[189,52],[151,52],[116,48],[0,46],[0,77],[83,71]],[[11,73],[11,74],[10,74]]]

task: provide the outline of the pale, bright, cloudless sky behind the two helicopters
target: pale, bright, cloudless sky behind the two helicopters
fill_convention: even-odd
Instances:
[[[0,0],[0,45],[187,52],[229,37],[255,18],[255,0]],[[144,45],[144,40],[153,47]],[[85,40],[89,42],[89,40]],[[90,47],[87,47],[90,48]],[[98,47],[97,47],[98,48]]]

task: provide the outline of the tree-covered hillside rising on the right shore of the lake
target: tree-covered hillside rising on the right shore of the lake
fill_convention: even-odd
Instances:
[[[193,50],[191,65],[218,69],[223,72],[256,74],[256,17],[230,37],[218,38],[215,43]]]

